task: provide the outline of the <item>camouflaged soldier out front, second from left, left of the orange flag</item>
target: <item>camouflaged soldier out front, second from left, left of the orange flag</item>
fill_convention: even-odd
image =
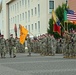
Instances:
[[[13,38],[13,34],[10,35],[10,38],[9,38],[9,54],[10,54],[10,58],[12,57],[13,55],[13,58],[16,57],[16,54],[15,54],[15,39]]]

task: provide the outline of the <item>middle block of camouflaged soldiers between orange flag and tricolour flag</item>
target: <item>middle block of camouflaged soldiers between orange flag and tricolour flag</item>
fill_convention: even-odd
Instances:
[[[27,46],[30,52],[40,53],[41,55],[55,55],[56,53],[56,39],[50,34],[35,36],[31,41],[28,41],[27,38]]]

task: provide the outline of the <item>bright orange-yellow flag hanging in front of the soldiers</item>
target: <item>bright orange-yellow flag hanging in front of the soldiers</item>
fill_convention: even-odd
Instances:
[[[20,43],[23,44],[25,42],[25,38],[27,37],[28,30],[20,25]]]

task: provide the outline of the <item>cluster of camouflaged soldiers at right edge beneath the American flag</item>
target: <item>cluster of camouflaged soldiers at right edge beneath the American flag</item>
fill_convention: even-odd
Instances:
[[[76,32],[65,32],[65,47],[64,57],[65,58],[76,58]]]

